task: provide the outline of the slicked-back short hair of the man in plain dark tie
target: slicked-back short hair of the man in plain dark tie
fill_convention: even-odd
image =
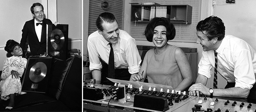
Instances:
[[[103,31],[102,24],[103,22],[112,23],[117,21],[114,14],[109,12],[103,12],[99,15],[99,17],[96,20],[96,26],[100,31]]]

